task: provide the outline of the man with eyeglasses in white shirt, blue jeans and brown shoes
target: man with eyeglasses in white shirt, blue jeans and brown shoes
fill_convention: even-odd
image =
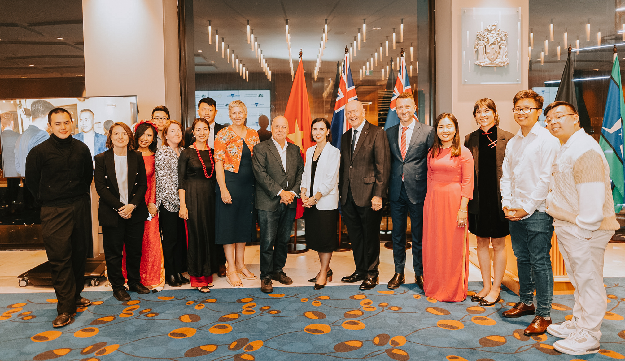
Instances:
[[[551,164],[559,142],[538,123],[543,98],[535,91],[517,92],[512,103],[514,121],[521,126],[506,146],[502,165],[501,204],[509,222],[512,250],[517,259],[519,302],[504,317],[534,315],[527,336],[542,335],[551,325],[553,219],[546,213]],[[536,305],[534,308],[534,289]]]

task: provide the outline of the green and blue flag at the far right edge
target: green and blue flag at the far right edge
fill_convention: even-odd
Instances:
[[[621,211],[623,195],[625,194],[623,116],[625,116],[625,104],[621,87],[621,67],[619,66],[619,57],[616,56],[612,65],[610,85],[607,89],[606,111],[603,115],[601,137],[599,138],[599,145],[606,156],[607,164],[610,166],[612,198],[614,199],[614,212],[616,213]]]

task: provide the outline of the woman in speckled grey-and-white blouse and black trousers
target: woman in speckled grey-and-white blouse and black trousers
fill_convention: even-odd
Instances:
[[[183,127],[169,121],[163,128],[163,146],[156,151],[156,207],[163,239],[165,280],[171,287],[189,284],[183,276],[187,268],[187,245],[184,220],[178,217],[178,157],[184,150]]]

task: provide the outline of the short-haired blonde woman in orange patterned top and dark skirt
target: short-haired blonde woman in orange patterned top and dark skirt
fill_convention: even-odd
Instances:
[[[244,125],[247,107],[242,101],[230,102],[228,113],[232,125],[221,129],[215,139],[215,243],[224,245],[227,282],[242,287],[241,279],[257,279],[247,269],[244,255],[245,243],[256,238],[252,147],[259,139],[254,129]]]

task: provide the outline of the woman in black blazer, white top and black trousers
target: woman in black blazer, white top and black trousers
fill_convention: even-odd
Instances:
[[[102,226],[104,259],[113,295],[120,301],[130,296],[124,288],[122,251],[126,246],[128,289],[138,294],[150,291],[141,284],[139,267],[145,220],[149,212],[146,167],[141,152],[133,150],[133,132],[124,123],[115,123],[106,138],[106,152],[95,157],[94,181],[100,196],[98,219]]]

